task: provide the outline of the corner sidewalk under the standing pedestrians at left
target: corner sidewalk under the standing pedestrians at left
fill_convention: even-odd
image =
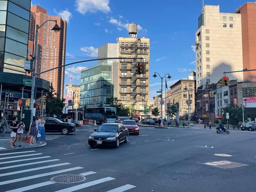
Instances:
[[[17,150],[23,150],[24,148],[28,149],[28,148],[35,148],[35,147],[41,147],[41,146],[47,145],[45,141],[42,141],[41,143],[36,143],[30,146],[29,143],[25,141],[26,141],[26,138],[23,137],[21,147],[19,147],[19,141],[16,141],[15,148],[10,148],[10,134],[5,134],[4,137],[0,136],[0,151],[5,151],[5,150],[17,151]]]

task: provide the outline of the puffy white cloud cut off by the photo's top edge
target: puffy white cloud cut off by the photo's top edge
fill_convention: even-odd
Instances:
[[[88,12],[93,13],[97,11],[109,13],[111,11],[109,3],[109,0],[76,0],[75,7],[83,15]]]

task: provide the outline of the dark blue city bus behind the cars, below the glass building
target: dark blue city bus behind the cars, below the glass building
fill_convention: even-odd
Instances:
[[[99,106],[95,108],[86,108],[85,119],[96,120],[96,123],[103,123],[104,115],[111,122],[117,117],[117,110],[113,106]]]

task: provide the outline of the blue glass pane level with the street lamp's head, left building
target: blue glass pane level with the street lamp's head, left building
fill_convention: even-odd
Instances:
[[[29,32],[29,20],[20,18],[10,12],[8,12],[7,25],[19,29],[20,31],[24,31],[25,33]]]

